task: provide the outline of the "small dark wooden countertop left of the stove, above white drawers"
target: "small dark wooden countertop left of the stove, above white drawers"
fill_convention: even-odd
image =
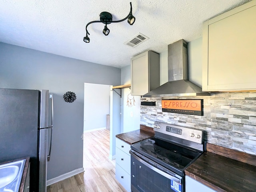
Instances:
[[[140,125],[140,129],[135,131],[130,131],[128,133],[121,133],[116,135],[116,138],[132,145],[139,141],[153,137],[155,132],[152,127],[147,127],[145,125]]]

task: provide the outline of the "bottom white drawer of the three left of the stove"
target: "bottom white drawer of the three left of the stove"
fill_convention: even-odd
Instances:
[[[131,191],[131,176],[122,167],[116,164],[116,180],[126,189]]]

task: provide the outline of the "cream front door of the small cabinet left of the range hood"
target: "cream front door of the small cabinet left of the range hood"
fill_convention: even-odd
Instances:
[[[131,94],[144,95],[148,89],[148,52],[145,52],[131,60]]]

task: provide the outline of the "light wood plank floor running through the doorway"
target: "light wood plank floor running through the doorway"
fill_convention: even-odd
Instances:
[[[84,173],[47,187],[47,192],[126,192],[115,178],[115,161],[108,159],[109,131],[84,133]]]

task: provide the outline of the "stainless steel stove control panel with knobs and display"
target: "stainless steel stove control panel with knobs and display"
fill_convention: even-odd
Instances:
[[[154,131],[200,144],[202,144],[203,142],[203,131],[198,129],[192,129],[189,127],[182,127],[178,125],[171,125],[168,123],[155,121]]]

